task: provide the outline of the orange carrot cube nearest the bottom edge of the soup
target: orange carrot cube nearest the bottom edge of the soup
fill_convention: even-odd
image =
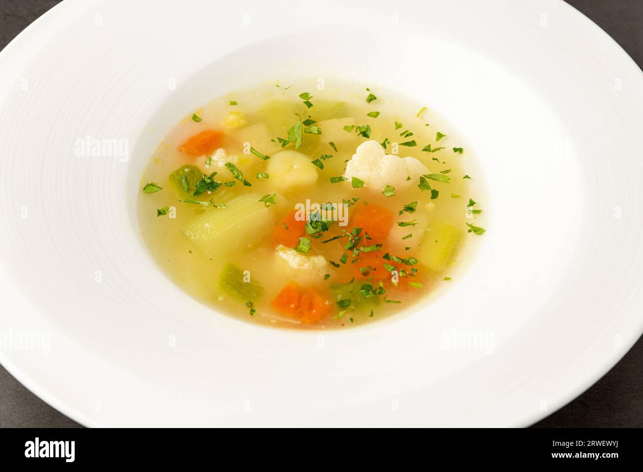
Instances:
[[[318,324],[328,313],[331,301],[312,288],[303,288],[291,282],[276,295],[270,306],[303,324]]]

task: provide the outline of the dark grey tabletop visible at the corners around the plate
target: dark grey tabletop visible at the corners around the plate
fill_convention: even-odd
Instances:
[[[484,0],[480,0],[484,1]],[[512,0],[521,1],[521,0]],[[57,0],[0,0],[0,48]],[[568,0],[643,68],[643,0]],[[643,338],[592,388],[536,427],[642,427]],[[0,367],[0,427],[73,427]]]

